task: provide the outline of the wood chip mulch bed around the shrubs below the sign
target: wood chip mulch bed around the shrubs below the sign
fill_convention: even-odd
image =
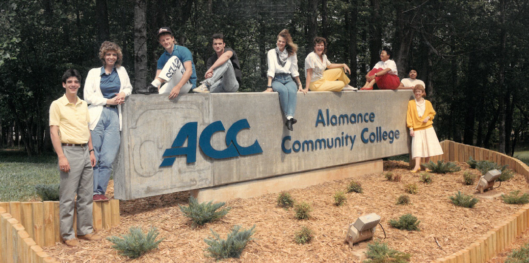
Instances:
[[[158,250],[135,260],[118,255],[107,240],[81,240],[81,246],[75,249],[58,243],[44,250],[62,262],[214,262],[204,252],[207,247],[204,239],[211,236],[210,229],[225,238],[236,224],[244,228],[255,224],[254,240],[248,243],[241,258],[226,259],[225,262],[360,262],[344,243],[345,233],[348,224],[360,215],[375,212],[381,216],[381,224],[387,234],[384,242],[391,248],[411,253],[410,262],[430,262],[469,246],[521,208],[521,205],[505,204],[501,198],[480,199],[474,209],[454,206],[448,197],[458,190],[466,194],[475,193],[475,186],[462,184],[463,173],[479,174],[466,163],[459,165],[460,172],[432,174],[432,184],[419,182],[420,174],[409,173],[405,162],[385,161],[384,171],[400,174],[402,181],[388,182],[383,174],[368,174],[290,190],[289,193],[297,201],[307,201],[314,209],[311,219],[302,221],[294,218],[292,209],[285,210],[276,205],[277,194],[231,200],[226,205],[232,210],[224,218],[197,229],[191,229],[190,221],[178,208],[178,204],[187,204],[188,192],[122,201],[120,226],[99,233],[104,237],[118,236],[128,232],[132,226],[141,226],[144,230],[154,226],[160,232],[159,238],[165,238]],[[334,193],[345,191],[352,180],[361,182],[363,193],[346,193],[346,203],[334,206]],[[408,183],[416,183],[418,193],[409,195],[412,204],[396,205],[396,199],[405,194],[404,187]],[[512,180],[503,182],[498,191],[525,192],[527,187],[525,178],[516,174]],[[107,191],[110,196],[112,190],[111,182]],[[421,221],[421,231],[403,231],[389,226],[390,219],[397,219],[406,213],[412,213]],[[294,242],[294,233],[302,226],[308,226],[315,232],[313,241],[306,245]],[[384,233],[378,227],[375,239],[383,238]],[[364,248],[366,242],[356,247]]]

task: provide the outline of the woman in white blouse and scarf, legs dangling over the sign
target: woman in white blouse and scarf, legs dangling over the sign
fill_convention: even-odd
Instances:
[[[279,104],[287,119],[285,125],[289,130],[293,130],[292,125],[297,122],[294,119],[296,93],[298,90],[307,93],[307,90],[303,89],[299,80],[297,45],[292,42],[288,30],[284,29],[279,32],[276,44],[275,49],[268,51],[268,86],[265,92],[279,93]]]

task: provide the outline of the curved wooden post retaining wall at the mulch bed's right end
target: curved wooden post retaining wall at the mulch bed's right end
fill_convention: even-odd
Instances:
[[[477,161],[489,160],[500,165],[509,165],[510,170],[524,175],[529,180],[529,166],[506,154],[452,142],[451,140],[444,140],[441,142],[441,146],[444,154],[432,157],[433,162],[441,159],[446,162],[466,162],[472,156]],[[424,159],[422,161],[424,162]],[[506,217],[503,222],[471,243],[470,246],[432,262],[485,263],[506,249],[527,228],[529,228],[529,205],[524,205],[516,213]]]

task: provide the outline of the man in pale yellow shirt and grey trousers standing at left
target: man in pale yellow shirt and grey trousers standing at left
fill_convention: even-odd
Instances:
[[[77,227],[79,239],[101,240],[94,234],[92,203],[94,192],[93,168],[96,164],[94,147],[88,123],[88,106],[77,97],[81,76],[75,69],[62,75],[65,95],[54,100],[50,106],[50,137],[59,158],[60,232],[65,244],[79,245],[75,238]],[[74,226],[74,205],[77,194],[77,226]]]

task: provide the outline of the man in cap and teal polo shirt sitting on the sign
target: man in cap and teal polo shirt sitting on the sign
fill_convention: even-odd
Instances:
[[[158,30],[158,42],[165,52],[158,59],[156,78],[140,94],[169,94],[174,99],[179,93],[187,93],[197,85],[197,74],[191,51],[185,46],[176,45],[169,27]],[[166,82],[161,86],[163,82]],[[161,87],[160,87],[161,86]]]

